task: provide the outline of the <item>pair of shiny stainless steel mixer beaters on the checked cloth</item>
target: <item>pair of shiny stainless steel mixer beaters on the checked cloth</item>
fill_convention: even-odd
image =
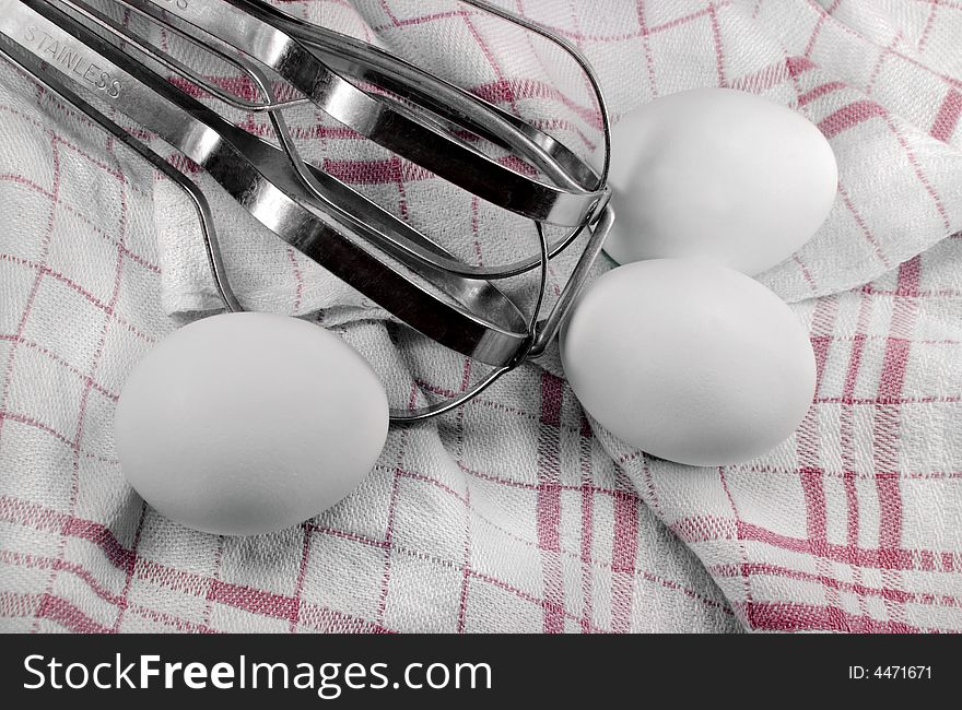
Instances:
[[[221,259],[215,217],[201,188],[114,121],[106,104],[202,167],[251,216],[414,330],[491,371],[468,391],[395,423],[423,421],[478,397],[506,372],[543,354],[601,250],[609,205],[610,125],[598,80],[577,48],[482,0],[460,0],[536,33],[578,64],[603,131],[596,170],[533,125],[404,59],[296,19],[263,0],[109,0],[192,43],[243,73],[257,99],[231,94],[150,37],[85,0],[0,0],[0,52],[148,159],[189,196],[216,291],[243,310]],[[172,78],[177,78],[173,81]],[[280,95],[280,80],[290,91]],[[183,82],[233,109],[267,115],[277,144],[237,127],[185,91]],[[288,96],[288,94],[291,94]],[[533,224],[538,251],[478,267],[305,161],[284,111],[310,103],[361,135]],[[533,168],[509,167],[474,143],[483,139]],[[564,236],[549,241],[545,225]],[[542,317],[551,259],[588,237],[560,298]],[[530,312],[496,282],[539,271]]]

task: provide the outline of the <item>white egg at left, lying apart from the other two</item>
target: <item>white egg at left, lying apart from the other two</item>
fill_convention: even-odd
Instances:
[[[225,535],[330,508],[377,462],[387,429],[384,388],[354,348],[268,313],[172,333],[131,372],[114,421],[121,471],[143,499]]]

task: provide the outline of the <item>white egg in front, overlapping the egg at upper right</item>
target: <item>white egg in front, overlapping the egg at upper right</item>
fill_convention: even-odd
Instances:
[[[691,465],[759,457],[814,394],[816,359],[791,309],[751,277],[656,259],[606,273],[562,332],[585,410],[626,443]]]

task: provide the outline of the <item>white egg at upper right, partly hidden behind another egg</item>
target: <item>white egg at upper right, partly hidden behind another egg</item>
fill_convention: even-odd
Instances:
[[[709,258],[749,275],[784,261],[835,201],[832,146],[800,114],[699,88],[627,114],[612,131],[606,251],[618,263]]]

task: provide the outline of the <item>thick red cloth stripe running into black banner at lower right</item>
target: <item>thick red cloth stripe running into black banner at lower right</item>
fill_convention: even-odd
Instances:
[[[766,631],[845,631],[852,634],[918,634],[920,629],[901,622],[880,622],[856,616],[836,606],[750,602],[746,616],[752,628]]]

